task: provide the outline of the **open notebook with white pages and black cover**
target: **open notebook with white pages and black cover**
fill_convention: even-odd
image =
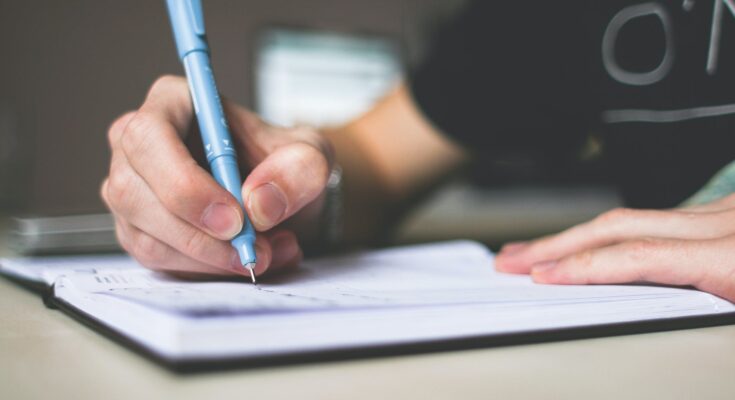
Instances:
[[[61,274],[53,296],[62,309],[179,369],[734,320],[735,305],[696,290],[536,285],[495,272],[492,262],[480,244],[448,242],[311,260],[254,286],[185,282],[129,261],[132,268],[86,265]]]

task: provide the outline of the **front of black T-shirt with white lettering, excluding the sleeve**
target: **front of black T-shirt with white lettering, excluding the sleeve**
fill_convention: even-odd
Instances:
[[[735,159],[735,1],[587,5],[611,173],[635,206],[673,206]]]

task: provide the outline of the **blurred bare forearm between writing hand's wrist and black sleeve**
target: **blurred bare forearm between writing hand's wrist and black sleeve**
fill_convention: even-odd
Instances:
[[[343,171],[344,241],[370,244],[466,155],[431,126],[400,86],[371,111],[325,135]]]

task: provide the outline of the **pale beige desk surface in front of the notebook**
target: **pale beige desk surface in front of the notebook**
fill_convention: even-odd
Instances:
[[[4,279],[0,321],[3,399],[735,398],[735,326],[178,376]]]

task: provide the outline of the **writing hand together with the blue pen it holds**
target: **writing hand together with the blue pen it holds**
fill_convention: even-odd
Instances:
[[[102,197],[115,215],[119,242],[141,264],[249,275],[255,283],[256,274],[301,260],[295,234],[277,226],[299,211],[307,222],[320,214],[314,209],[322,203],[331,147],[315,131],[270,127],[222,102],[201,2],[168,0],[167,6],[188,85],[159,79],[138,111],[113,123]],[[194,116],[212,175],[183,144]],[[246,162],[242,171],[238,156]],[[244,184],[241,173],[248,175]],[[262,232],[257,239],[255,230]]]

